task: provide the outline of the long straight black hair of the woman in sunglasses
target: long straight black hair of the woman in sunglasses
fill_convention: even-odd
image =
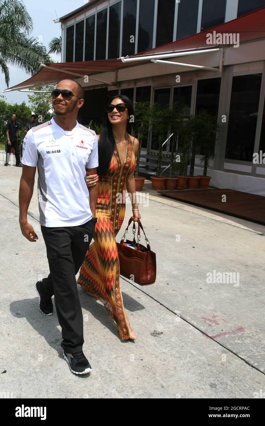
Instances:
[[[116,95],[108,99],[108,104],[111,104],[111,102],[116,98],[120,98],[125,104],[128,105],[129,119],[127,121],[126,131],[132,134],[136,131],[134,107],[133,107],[132,101],[125,95]],[[100,134],[100,141],[98,144],[98,158],[99,158],[99,166],[97,167],[98,175],[100,176],[106,175],[108,171],[108,167],[111,162],[111,157],[113,155],[114,147],[115,147],[115,140],[112,134],[112,124],[110,123],[108,119],[108,112],[105,111],[103,124],[102,124],[102,132]]]

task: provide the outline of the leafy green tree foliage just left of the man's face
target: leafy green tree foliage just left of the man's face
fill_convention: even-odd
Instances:
[[[40,124],[50,118],[52,110],[51,91],[55,88],[54,84],[35,87],[33,90],[48,91],[48,93],[36,92],[28,95],[28,101],[31,110],[36,115],[36,123]]]

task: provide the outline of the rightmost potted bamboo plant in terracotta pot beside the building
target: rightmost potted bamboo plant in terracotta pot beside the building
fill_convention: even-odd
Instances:
[[[207,176],[207,168],[209,162],[214,158],[215,140],[219,131],[219,124],[216,117],[202,110],[197,115],[197,138],[200,142],[200,152],[202,158],[200,162],[204,162],[203,176],[199,176],[199,188],[206,189],[211,180],[211,176]]]

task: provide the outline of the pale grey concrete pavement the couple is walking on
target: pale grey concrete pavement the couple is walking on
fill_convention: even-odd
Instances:
[[[56,312],[38,308],[34,282],[48,273],[37,208],[37,176],[21,234],[21,169],[0,165],[0,392],[14,398],[253,398],[265,392],[265,227],[158,196],[146,183],[142,224],[157,253],[157,281],[121,279],[137,340],[120,341],[103,305],[79,287],[89,376],[74,376],[62,357]],[[129,207],[129,206],[128,206]],[[130,216],[127,209],[120,240]],[[142,242],[144,239],[142,239]],[[239,273],[236,283],[207,274]]]

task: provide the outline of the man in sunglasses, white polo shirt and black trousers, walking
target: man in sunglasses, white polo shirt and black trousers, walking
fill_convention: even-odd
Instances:
[[[34,176],[38,168],[40,225],[50,274],[36,283],[40,311],[53,305],[62,327],[63,356],[70,370],[86,374],[91,366],[83,354],[83,315],[75,275],[93,238],[98,188],[86,185],[86,170],[97,173],[97,135],[77,122],[84,103],[82,86],[63,80],[51,93],[55,118],[33,127],[23,141],[20,180],[20,228],[31,242],[38,239],[27,221]]]

